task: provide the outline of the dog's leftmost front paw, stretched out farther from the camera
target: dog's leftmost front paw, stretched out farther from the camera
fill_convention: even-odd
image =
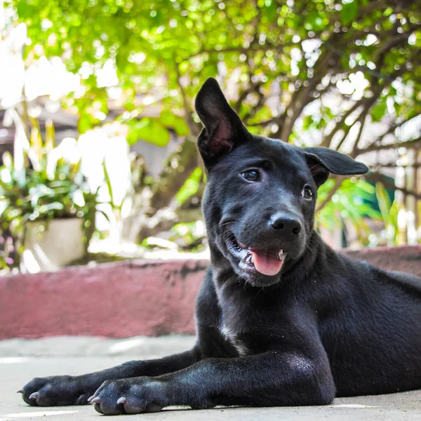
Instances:
[[[92,394],[92,390],[84,389],[83,382],[71,375],[36,377],[19,392],[32,406],[85,405]]]

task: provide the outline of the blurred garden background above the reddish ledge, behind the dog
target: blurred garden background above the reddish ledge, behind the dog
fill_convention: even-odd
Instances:
[[[421,11],[402,0],[0,0],[0,274],[206,257],[194,96],[370,167],[335,248],[421,243]]]

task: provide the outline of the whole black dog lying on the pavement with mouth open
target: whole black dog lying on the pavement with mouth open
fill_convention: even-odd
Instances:
[[[324,405],[421,387],[421,280],[335,253],[314,232],[317,187],[367,168],[320,147],[251,135],[215,79],[196,98],[211,265],[182,354],[36,378],[29,405],[100,413],[165,406]],[[93,396],[91,396],[93,395]],[[91,398],[89,398],[91,396]],[[89,398],[89,399],[88,399]]]

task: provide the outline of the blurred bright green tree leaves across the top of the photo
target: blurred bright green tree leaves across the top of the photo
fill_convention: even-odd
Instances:
[[[420,11],[413,2],[20,0],[13,4],[33,40],[25,51],[27,61],[42,53],[59,55],[65,57],[68,69],[83,74],[84,98],[71,101],[81,116],[90,114],[86,98],[100,102],[106,112],[107,89],[98,86],[97,70],[109,61],[115,65],[129,111],[140,94],[148,97],[147,103],[159,101],[165,115],[176,118],[174,111],[186,111],[184,99],[190,112],[204,79],[222,73],[225,81],[239,82],[244,98],[234,105],[246,123],[270,119],[281,128],[278,134],[283,140],[288,140],[298,114],[315,98],[347,84],[351,91],[342,95],[351,99],[358,71],[368,82],[361,105],[370,103],[368,112],[374,119],[381,119],[388,109],[401,118],[420,110]],[[403,101],[392,83],[396,79],[412,87]],[[267,103],[274,81],[281,89],[279,112]],[[377,99],[379,104],[373,107]],[[294,115],[286,113],[286,107]],[[337,110],[326,107],[323,114],[319,128],[335,121]],[[166,126],[168,117],[162,119]],[[142,126],[144,134],[157,133],[159,122],[148,121],[145,126],[150,127]]]

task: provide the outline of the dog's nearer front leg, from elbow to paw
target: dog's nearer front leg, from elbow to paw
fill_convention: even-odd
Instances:
[[[168,375],[104,382],[91,401],[107,415],[155,412],[165,406],[298,406],[333,401],[335,386],[326,355],[266,352],[211,358]]]

